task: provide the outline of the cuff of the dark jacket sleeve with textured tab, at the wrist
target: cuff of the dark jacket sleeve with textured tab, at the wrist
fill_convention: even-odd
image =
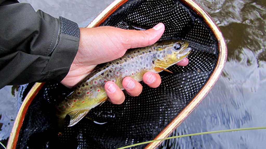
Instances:
[[[43,81],[55,80],[62,81],[68,74],[70,66],[77,54],[80,29],[78,24],[59,17],[60,29],[57,36],[57,42],[48,56],[50,59],[42,73],[47,74]]]

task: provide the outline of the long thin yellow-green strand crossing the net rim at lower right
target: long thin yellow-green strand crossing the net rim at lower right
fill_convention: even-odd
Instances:
[[[212,134],[212,133],[225,133],[225,132],[234,132],[234,131],[242,131],[242,130],[255,130],[255,129],[266,129],[266,127],[237,128],[237,129],[227,129],[227,130],[218,130],[218,131],[211,131],[211,132],[202,132],[202,133],[178,135],[178,136],[174,136],[174,137],[168,137],[168,138],[163,138],[163,139],[158,139],[158,140],[141,142],[141,143],[125,146],[125,147],[120,147],[118,149],[129,148],[129,147],[138,146],[138,145],[142,145],[142,144],[147,144],[147,143],[151,143],[151,142],[155,142],[155,141],[162,141],[162,140],[167,140],[167,139],[188,137],[188,136],[193,136],[193,135]]]

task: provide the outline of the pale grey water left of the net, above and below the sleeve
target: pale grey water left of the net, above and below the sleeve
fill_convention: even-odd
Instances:
[[[79,27],[86,27],[113,0],[19,0],[19,2],[30,3],[35,11],[40,9],[53,17],[63,16],[78,23]],[[7,144],[5,139],[9,137],[21,105],[18,100],[21,97],[18,94],[18,86],[6,86],[0,90],[0,141],[5,145]]]

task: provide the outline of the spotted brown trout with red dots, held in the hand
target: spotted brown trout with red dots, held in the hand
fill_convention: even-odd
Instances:
[[[57,104],[59,126],[62,128],[64,125],[66,115],[70,116],[69,126],[75,125],[90,109],[106,101],[105,82],[113,81],[123,90],[124,77],[130,76],[142,81],[144,73],[148,71],[157,73],[166,70],[191,52],[188,44],[182,40],[156,42],[151,46],[129,49],[121,58],[98,65],[94,72]]]

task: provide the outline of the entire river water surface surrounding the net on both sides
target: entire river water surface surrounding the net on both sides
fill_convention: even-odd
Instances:
[[[19,0],[85,27],[112,0]],[[171,134],[266,126],[266,1],[196,0],[210,14],[227,42],[221,77],[201,104]],[[86,10],[82,11],[82,10]],[[89,11],[88,11],[89,10]],[[0,140],[6,144],[21,103],[18,86],[0,90]],[[159,148],[265,148],[266,130],[206,134],[171,139]],[[0,147],[1,148],[1,147]]]

